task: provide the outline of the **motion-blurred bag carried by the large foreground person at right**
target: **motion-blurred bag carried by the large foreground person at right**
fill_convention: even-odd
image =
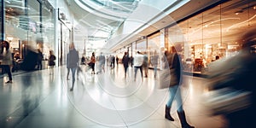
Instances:
[[[211,115],[229,114],[247,108],[252,103],[252,92],[235,90],[225,87],[218,90],[210,90],[204,94],[203,101],[210,110]]]

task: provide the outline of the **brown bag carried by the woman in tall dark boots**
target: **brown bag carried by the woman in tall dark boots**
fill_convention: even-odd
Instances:
[[[173,62],[174,54],[172,54],[171,56],[168,56],[168,57],[172,57],[172,59],[170,59],[170,60],[172,60],[172,62]],[[164,61],[164,63],[168,64],[167,58],[166,58],[166,61]],[[163,70],[161,70],[159,81],[160,81],[159,89],[166,89],[166,88],[172,87],[174,85],[177,85],[178,80],[177,80],[177,74],[175,72],[175,68],[165,67]]]

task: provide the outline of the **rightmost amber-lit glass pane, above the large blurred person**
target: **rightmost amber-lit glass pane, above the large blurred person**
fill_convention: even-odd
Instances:
[[[230,1],[222,5],[222,40],[227,45],[226,55],[234,55],[241,49],[237,38],[241,32],[255,27],[255,1]]]

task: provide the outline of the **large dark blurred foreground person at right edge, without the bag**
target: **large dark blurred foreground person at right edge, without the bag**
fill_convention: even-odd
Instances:
[[[212,90],[223,89],[229,87],[238,91],[250,92],[249,104],[246,108],[236,109],[232,113],[223,113],[224,117],[228,120],[229,128],[241,127],[256,127],[256,54],[253,52],[256,46],[256,29],[249,29],[244,35],[241,36],[240,42],[241,50],[235,56],[228,58],[218,66],[215,72],[222,73],[225,71],[225,78],[218,84],[212,85]],[[230,69],[227,73],[227,69]],[[214,70],[214,69],[213,69]],[[213,72],[214,73],[214,72]],[[239,106],[239,104],[237,104]]]

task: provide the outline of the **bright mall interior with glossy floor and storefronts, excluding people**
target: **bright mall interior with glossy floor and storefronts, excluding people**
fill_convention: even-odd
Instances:
[[[182,127],[165,119],[168,90],[158,89],[150,58],[164,58],[175,47],[183,64],[183,108],[190,125],[224,128],[229,122],[204,105],[208,67],[237,55],[244,32],[256,26],[254,0],[1,0],[1,39],[13,53],[13,83],[1,67],[0,127]],[[74,44],[80,72],[73,91],[67,53]],[[256,45],[253,46],[254,49]],[[43,70],[20,65],[32,51],[43,53]],[[1,49],[2,51],[2,49]],[[49,67],[49,51],[56,56]],[[148,55],[148,77],[128,67],[122,57]],[[254,51],[255,52],[255,51]],[[106,57],[104,73],[87,66],[92,53]],[[109,56],[119,58],[110,67]],[[157,71],[164,59],[158,60]],[[31,65],[29,65],[31,66]],[[28,65],[26,66],[28,67]],[[138,73],[139,74],[139,73]],[[174,102],[174,104],[177,104]],[[173,105],[175,106],[175,105]]]

